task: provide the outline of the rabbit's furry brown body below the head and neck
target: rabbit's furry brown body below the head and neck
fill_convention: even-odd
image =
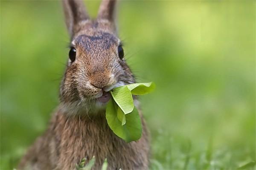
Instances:
[[[109,170],[143,170],[148,168],[148,139],[145,123],[137,142],[126,143],[108,127],[105,116],[67,116],[55,113],[49,129],[40,136],[23,157],[18,169],[74,170],[84,157],[96,157],[94,170],[105,158]]]

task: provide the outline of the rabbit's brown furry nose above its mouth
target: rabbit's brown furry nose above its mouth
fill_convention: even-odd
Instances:
[[[102,72],[93,74],[90,78],[90,83],[97,88],[104,88],[108,85],[110,77]]]

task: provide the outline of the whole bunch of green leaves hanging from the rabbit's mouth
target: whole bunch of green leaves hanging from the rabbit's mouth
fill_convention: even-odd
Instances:
[[[153,91],[153,82],[134,83],[114,88],[107,104],[106,119],[109,127],[125,142],[137,141],[142,135],[142,125],[132,95],[144,95]]]

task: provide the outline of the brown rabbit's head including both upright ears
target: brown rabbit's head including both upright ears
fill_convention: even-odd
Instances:
[[[96,19],[88,16],[82,0],[63,0],[71,37],[67,68],[61,83],[64,112],[97,112],[113,88],[134,83],[125,62],[115,24],[116,0],[103,0]]]

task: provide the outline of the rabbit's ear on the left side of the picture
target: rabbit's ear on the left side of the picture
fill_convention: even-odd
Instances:
[[[71,37],[75,33],[75,28],[82,20],[88,20],[89,15],[86,12],[83,0],[62,0],[65,21],[68,32]]]

